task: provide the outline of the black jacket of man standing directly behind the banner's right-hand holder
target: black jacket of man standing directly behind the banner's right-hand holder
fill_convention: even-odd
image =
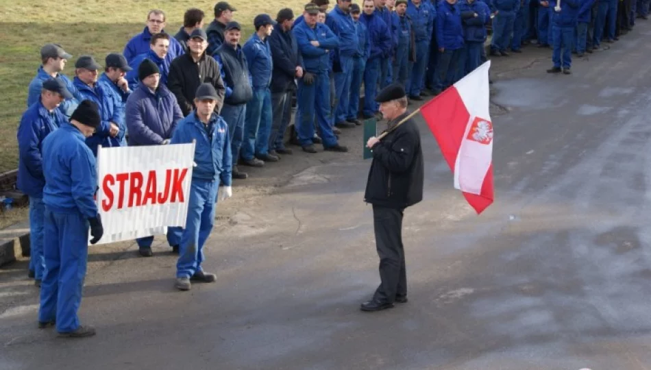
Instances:
[[[214,86],[219,99],[214,111],[219,114],[224,103],[226,88],[219,73],[219,64],[204,53],[195,63],[190,53],[185,53],[173,60],[169,66],[167,76],[167,87],[175,95],[184,116],[187,116],[195,109],[194,100],[197,88],[204,82]]]

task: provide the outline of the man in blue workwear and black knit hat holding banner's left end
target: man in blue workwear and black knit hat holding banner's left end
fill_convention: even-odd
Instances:
[[[95,156],[85,139],[101,125],[97,103],[84,100],[62,125],[43,140],[45,188],[45,275],[40,290],[38,328],[56,325],[60,336],[95,335],[79,325],[88,258],[88,225],[95,244],[103,235],[95,204]]]

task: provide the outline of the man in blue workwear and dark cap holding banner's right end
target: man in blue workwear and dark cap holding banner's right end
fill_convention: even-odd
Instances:
[[[191,280],[214,282],[216,276],[201,269],[204,261],[204,244],[214,223],[217,189],[223,184],[221,200],[232,196],[232,153],[228,125],[214,113],[219,101],[217,91],[211,84],[201,84],[195,95],[197,107],[180,121],[172,136],[172,144],[195,141],[195,163],[190,196],[188,217],[181,236],[180,256],[176,265],[176,288],[188,291]]]

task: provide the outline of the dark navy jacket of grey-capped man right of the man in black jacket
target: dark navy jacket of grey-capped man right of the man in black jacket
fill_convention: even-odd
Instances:
[[[214,60],[217,60],[217,64],[221,67],[221,79],[226,86],[224,102],[230,106],[238,106],[251,100],[253,82],[251,82],[249,64],[242,47],[237,45],[237,48],[234,48],[222,44],[214,52]]]

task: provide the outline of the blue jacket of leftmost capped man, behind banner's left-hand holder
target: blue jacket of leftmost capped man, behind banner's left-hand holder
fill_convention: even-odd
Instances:
[[[18,190],[29,197],[42,198],[45,175],[43,175],[42,143],[45,137],[68,120],[55,109],[48,112],[40,102],[32,104],[23,116],[18,127]]]

